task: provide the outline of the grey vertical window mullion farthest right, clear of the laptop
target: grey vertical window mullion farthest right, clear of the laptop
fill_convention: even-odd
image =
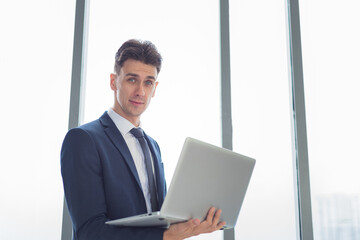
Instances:
[[[307,148],[303,66],[300,36],[298,0],[287,1],[289,29],[289,73],[292,100],[293,160],[295,173],[296,206],[298,206],[297,228],[300,240],[312,240],[312,213],[310,196],[310,174]]]

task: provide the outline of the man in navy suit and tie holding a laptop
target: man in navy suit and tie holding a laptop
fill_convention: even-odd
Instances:
[[[155,95],[161,60],[152,43],[125,42],[110,75],[113,107],[98,120],[71,129],[64,139],[61,173],[74,240],[180,240],[225,225],[214,208],[202,222],[191,219],[168,229],[105,224],[157,211],[163,203],[166,184],[159,146],[145,133],[137,136],[142,133],[141,114]]]

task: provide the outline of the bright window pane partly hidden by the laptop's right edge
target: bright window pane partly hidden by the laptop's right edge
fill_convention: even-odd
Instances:
[[[235,239],[297,239],[284,1],[230,1],[233,149],[257,160]]]

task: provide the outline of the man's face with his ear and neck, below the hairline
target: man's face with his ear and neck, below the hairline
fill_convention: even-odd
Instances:
[[[156,78],[155,66],[126,60],[118,75],[110,75],[110,86],[115,96],[114,111],[138,126],[141,114],[155,95]]]

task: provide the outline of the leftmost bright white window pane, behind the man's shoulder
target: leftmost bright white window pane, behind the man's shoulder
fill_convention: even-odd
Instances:
[[[0,239],[60,239],[74,12],[73,1],[0,3]]]

